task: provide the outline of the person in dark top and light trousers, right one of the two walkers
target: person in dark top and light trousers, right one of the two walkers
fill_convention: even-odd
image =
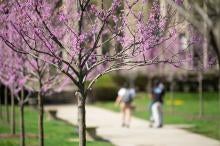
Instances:
[[[163,98],[165,88],[162,82],[156,81],[151,93],[151,121],[152,126],[160,128],[163,126]]]

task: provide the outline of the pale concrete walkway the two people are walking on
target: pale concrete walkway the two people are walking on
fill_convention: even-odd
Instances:
[[[47,106],[48,109],[56,109],[59,118],[77,123],[77,108],[74,105]],[[217,140],[172,125],[161,129],[149,128],[146,121],[138,118],[132,119],[130,128],[122,128],[119,113],[93,106],[87,106],[86,118],[87,125],[98,126],[97,134],[115,146],[220,146]]]

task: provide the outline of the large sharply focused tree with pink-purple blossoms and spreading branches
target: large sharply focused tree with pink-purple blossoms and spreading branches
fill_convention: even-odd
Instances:
[[[58,68],[77,87],[80,146],[86,145],[85,100],[98,78],[116,70],[178,62],[175,51],[162,58],[166,50],[160,49],[173,35],[167,23],[174,14],[162,16],[159,1],[149,10],[148,4],[143,0],[113,0],[110,6],[104,6],[103,0],[11,0],[0,5],[2,42]],[[117,45],[104,51],[107,43]]]

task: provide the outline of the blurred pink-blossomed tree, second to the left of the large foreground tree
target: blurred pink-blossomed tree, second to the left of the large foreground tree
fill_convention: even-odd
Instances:
[[[2,50],[6,52],[7,47]],[[18,101],[18,105],[20,107],[20,145],[25,146],[25,124],[24,124],[24,105],[28,101],[29,94],[27,96],[24,95],[25,83],[29,78],[27,68],[26,68],[26,56],[23,54],[18,54],[8,49],[10,53],[13,55],[11,57],[10,54],[7,54],[7,57],[10,58],[9,61],[5,61],[5,68],[9,71],[7,74],[10,76],[12,80],[11,88],[13,91],[13,95],[16,97]],[[4,76],[5,74],[3,74]],[[27,89],[26,89],[27,90]]]

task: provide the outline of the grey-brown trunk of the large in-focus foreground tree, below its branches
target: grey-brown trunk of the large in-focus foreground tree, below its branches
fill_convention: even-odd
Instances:
[[[78,129],[79,129],[79,146],[86,146],[86,109],[85,97],[77,93],[78,101]]]

